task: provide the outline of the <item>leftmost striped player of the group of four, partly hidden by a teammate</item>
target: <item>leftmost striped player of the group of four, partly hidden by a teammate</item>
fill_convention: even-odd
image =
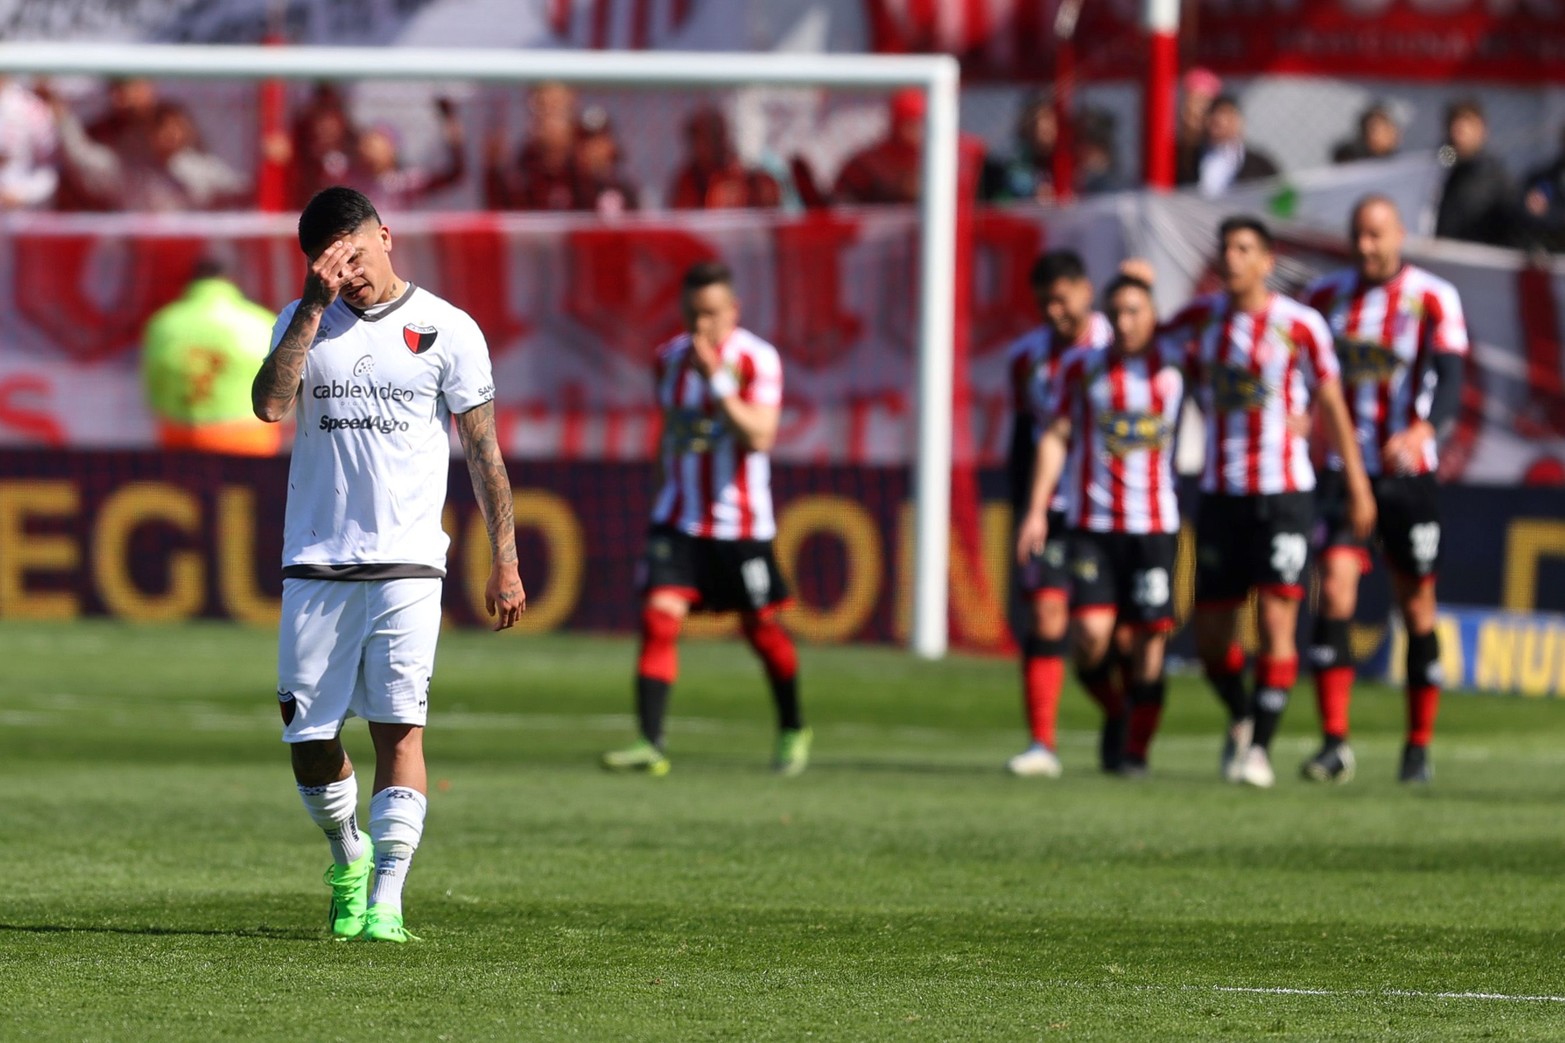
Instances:
[[[1049,426],[1049,385],[1060,360],[1072,348],[1103,346],[1113,330],[1092,310],[1092,283],[1075,251],[1050,251],[1038,258],[1031,272],[1033,294],[1044,324],[1011,345],[1008,366],[1016,409],[1011,428],[1011,517],[1022,518],[1031,503],[1038,437]],[[1064,686],[1066,631],[1070,625],[1070,576],[1066,562],[1066,496],[1049,504],[1049,539],[1036,553],[1020,559],[1019,584],[1028,600],[1028,631],[1022,639],[1022,700],[1031,745],[1006,763],[1014,775],[1060,775],[1055,755],[1055,716]],[[1100,673],[1083,677],[1113,725],[1105,727],[1108,760],[1117,758],[1117,734],[1124,720],[1124,700],[1114,689],[1108,664]],[[1110,749],[1111,747],[1111,749]],[[1113,767],[1110,763],[1106,767]]]

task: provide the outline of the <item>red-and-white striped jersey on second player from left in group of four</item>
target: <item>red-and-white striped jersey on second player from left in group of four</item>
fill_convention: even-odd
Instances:
[[[1174,434],[1185,399],[1183,357],[1158,341],[1139,355],[1075,348],[1060,365],[1050,412],[1070,420],[1060,479],[1066,518],[1094,532],[1177,532]]]

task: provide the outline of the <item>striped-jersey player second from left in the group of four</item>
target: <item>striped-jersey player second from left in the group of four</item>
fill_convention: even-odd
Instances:
[[[1083,677],[1106,672],[1116,625],[1131,631],[1130,734],[1117,771],[1142,775],[1174,630],[1180,518],[1172,460],[1185,379],[1180,352],[1153,343],[1158,316],[1147,282],[1122,274],[1103,304],[1113,341],[1070,349],[1052,384],[1016,553],[1027,562],[1066,536],[1049,507],[1069,489],[1077,669]]]

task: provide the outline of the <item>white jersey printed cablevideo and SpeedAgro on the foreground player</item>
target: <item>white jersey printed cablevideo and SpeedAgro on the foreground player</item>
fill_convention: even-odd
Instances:
[[[277,316],[274,349],[297,307]],[[285,575],[444,575],[451,415],[493,398],[488,346],[466,312],[412,283],[365,315],[333,301],[299,385]],[[343,568],[354,565],[368,568]]]

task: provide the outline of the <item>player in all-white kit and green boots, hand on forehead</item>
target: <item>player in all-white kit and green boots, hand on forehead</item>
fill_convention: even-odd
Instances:
[[[318,193],[299,216],[299,246],[310,258],[304,293],[279,315],[250,390],[261,420],[297,410],[277,650],[283,741],[332,847],[332,937],[416,941],[402,882],[424,832],[452,417],[488,525],[495,630],[513,626],[527,603],[495,379],[477,324],[393,271],[391,232],[362,193]],[[368,841],[338,738],[355,716],[376,749]]]

